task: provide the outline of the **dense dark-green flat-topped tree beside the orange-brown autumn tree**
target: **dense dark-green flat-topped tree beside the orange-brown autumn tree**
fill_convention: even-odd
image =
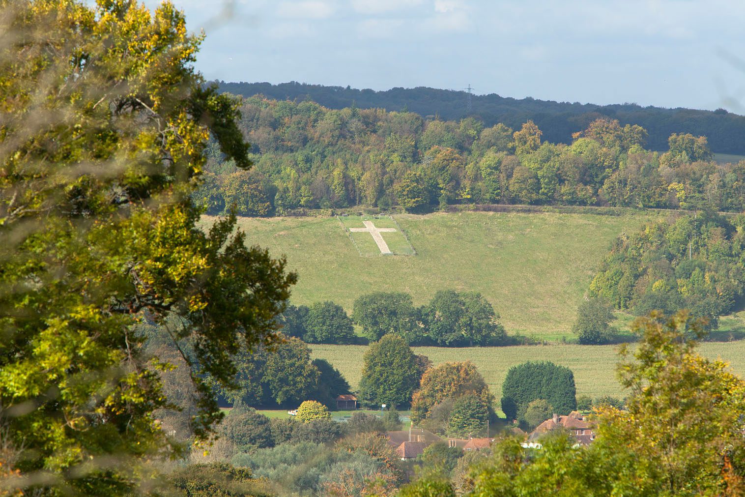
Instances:
[[[544,362],[524,362],[510,367],[502,383],[502,412],[507,420],[522,419],[527,406],[536,399],[546,399],[558,414],[569,414],[577,408],[574,373],[568,367]]]

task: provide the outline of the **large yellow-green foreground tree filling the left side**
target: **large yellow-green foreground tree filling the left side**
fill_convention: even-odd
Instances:
[[[274,341],[295,276],[191,194],[210,135],[250,167],[237,102],[194,71],[201,37],[168,2],[0,1],[0,417],[33,493],[121,495],[179,455],[158,358],[134,325],[183,320],[197,441],[241,344]],[[19,410],[19,406],[25,406]],[[13,416],[9,416],[8,409]],[[116,460],[112,464],[112,460]],[[98,461],[109,461],[99,466]],[[54,490],[57,489],[57,490]],[[61,492],[61,490],[60,490]]]

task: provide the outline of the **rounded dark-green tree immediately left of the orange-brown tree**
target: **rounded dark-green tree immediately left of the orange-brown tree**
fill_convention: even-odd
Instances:
[[[385,335],[365,351],[360,396],[368,405],[408,406],[418,380],[416,358],[403,338]]]

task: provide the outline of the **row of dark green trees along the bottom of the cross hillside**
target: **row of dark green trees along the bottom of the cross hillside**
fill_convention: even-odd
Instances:
[[[411,345],[489,346],[507,341],[499,314],[475,291],[438,291],[421,307],[415,307],[405,292],[373,292],[355,300],[352,317],[330,301],[288,304],[277,322],[286,335],[308,344],[355,343],[355,324],[371,342],[387,334]]]

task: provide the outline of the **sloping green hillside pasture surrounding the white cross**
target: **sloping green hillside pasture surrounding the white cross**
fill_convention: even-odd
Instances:
[[[351,312],[355,299],[371,291],[406,291],[422,305],[438,290],[474,290],[501,314],[508,333],[555,339],[569,334],[610,242],[656,215],[394,215],[416,256],[377,257],[360,256],[337,218],[240,218],[238,224],[250,244],[284,254],[299,273],[293,303],[333,300]],[[359,218],[344,222],[362,226]],[[356,235],[377,250],[372,236]]]

